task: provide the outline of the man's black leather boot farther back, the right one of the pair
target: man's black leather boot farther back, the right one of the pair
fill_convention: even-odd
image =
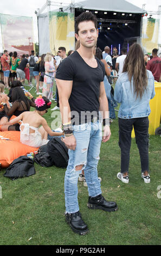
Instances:
[[[99,196],[96,197],[88,197],[88,204],[89,209],[100,209],[103,211],[117,211],[118,206],[115,202],[108,202],[106,199],[102,196],[102,194],[99,194]]]

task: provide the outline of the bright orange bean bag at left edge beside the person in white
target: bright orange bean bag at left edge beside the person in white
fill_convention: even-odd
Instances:
[[[3,139],[4,138],[4,139]],[[0,131],[0,163],[1,167],[8,167],[19,156],[25,156],[28,153],[37,151],[33,148],[20,143],[19,131]]]

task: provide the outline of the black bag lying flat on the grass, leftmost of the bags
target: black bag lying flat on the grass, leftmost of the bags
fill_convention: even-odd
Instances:
[[[10,164],[3,175],[15,180],[34,175],[35,173],[34,161],[27,156],[20,156]]]

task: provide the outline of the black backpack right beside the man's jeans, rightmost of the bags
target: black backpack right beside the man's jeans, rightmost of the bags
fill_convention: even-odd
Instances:
[[[47,144],[47,152],[50,155],[54,165],[60,168],[66,168],[68,165],[68,148],[61,138],[54,137]]]

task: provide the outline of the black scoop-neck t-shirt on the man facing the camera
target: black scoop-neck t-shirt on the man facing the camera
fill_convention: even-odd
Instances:
[[[74,115],[75,124],[89,121],[92,113],[94,117],[99,115],[100,82],[104,81],[105,66],[95,58],[98,67],[89,66],[75,51],[58,66],[56,78],[60,80],[73,81],[72,93],[69,97],[70,110],[79,114]],[[87,117],[88,116],[88,117]]]

